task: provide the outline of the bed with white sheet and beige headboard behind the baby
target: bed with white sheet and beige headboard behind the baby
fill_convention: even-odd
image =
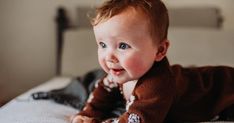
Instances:
[[[87,8],[77,10],[79,13],[89,11]],[[220,13],[217,9],[211,7],[202,8],[202,10],[212,11],[213,13],[210,12],[209,16],[214,16],[214,19],[210,22],[200,22],[192,27],[187,27],[187,24],[178,24],[180,26],[177,27],[176,21],[181,20],[175,20],[175,25],[169,29],[171,46],[168,58],[170,63],[183,66],[228,65],[234,67],[234,32],[220,29]],[[36,101],[31,97],[33,92],[65,87],[74,77],[99,68],[92,28],[85,20],[80,22],[83,24],[75,27],[69,25],[64,11],[65,9],[59,8],[57,16],[57,77],[30,89],[1,107],[1,123],[68,123],[69,116],[79,112],[75,108],[57,104],[51,100]],[[201,19],[203,16],[207,15],[201,15]],[[205,23],[208,23],[207,27],[204,26]]]

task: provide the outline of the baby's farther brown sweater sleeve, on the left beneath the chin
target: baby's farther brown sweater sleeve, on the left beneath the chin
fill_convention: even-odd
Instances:
[[[106,83],[104,79],[98,80],[94,91],[89,95],[85,107],[78,115],[88,116],[101,121],[110,115],[114,104],[120,98],[118,85]]]

